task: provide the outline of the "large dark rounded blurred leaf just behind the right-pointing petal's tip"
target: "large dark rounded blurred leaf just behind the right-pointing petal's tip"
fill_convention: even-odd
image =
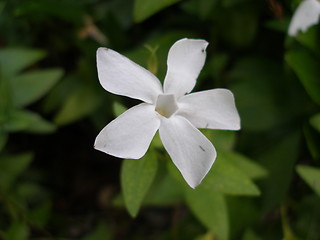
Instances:
[[[266,131],[297,114],[299,105],[294,105],[291,99],[287,102],[282,71],[279,63],[269,59],[249,57],[236,63],[231,71],[234,82],[231,88],[242,129]]]

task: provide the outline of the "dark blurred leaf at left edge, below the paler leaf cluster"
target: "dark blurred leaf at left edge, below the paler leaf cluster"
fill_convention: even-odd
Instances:
[[[31,153],[0,157],[0,187],[8,189],[13,181],[29,166],[32,158]]]

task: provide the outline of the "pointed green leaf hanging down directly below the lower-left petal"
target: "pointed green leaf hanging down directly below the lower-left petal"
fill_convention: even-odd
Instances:
[[[121,187],[126,207],[132,217],[138,214],[142,201],[157,172],[155,151],[148,151],[139,160],[124,160],[121,168]]]

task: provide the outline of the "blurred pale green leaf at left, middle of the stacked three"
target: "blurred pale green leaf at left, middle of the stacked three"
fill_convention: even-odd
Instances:
[[[10,80],[16,107],[24,107],[43,97],[61,78],[60,69],[27,72]]]

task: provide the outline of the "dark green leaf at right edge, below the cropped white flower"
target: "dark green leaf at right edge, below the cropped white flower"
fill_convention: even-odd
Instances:
[[[320,68],[319,61],[307,51],[291,51],[285,59],[292,70],[297,74],[309,96],[320,104]]]

